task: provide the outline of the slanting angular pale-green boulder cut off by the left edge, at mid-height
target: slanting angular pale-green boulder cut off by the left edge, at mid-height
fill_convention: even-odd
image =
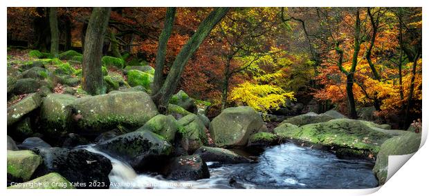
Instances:
[[[39,108],[42,98],[38,93],[28,95],[26,98],[8,107],[8,126],[19,121],[24,115]]]

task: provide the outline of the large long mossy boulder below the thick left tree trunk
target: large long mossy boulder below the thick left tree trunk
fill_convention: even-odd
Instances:
[[[158,115],[145,92],[116,92],[82,97],[70,106],[74,126],[84,133],[100,133],[122,125],[139,128]]]

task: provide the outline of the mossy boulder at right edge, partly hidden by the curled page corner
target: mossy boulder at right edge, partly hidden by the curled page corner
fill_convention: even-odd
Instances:
[[[376,174],[378,182],[381,185],[385,184],[387,181],[389,156],[415,153],[419,150],[420,142],[421,134],[408,132],[405,135],[387,139],[383,145],[381,145],[376,164],[372,170]]]

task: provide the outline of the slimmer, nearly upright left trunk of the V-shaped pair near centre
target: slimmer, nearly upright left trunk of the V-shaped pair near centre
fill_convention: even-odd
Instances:
[[[165,65],[165,54],[167,52],[167,42],[168,39],[170,39],[170,35],[172,35],[175,16],[176,8],[167,8],[167,13],[165,14],[164,29],[163,32],[161,32],[161,35],[159,35],[158,51],[156,52],[155,75],[154,83],[152,84],[152,95],[156,95],[156,93],[161,90],[161,86],[163,86],[163,70]]]

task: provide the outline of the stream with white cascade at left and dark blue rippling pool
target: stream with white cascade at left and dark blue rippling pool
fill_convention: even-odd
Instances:
[[[210,179],[170,181],[161,175],[137,174],[114,157],[84,146],[111,160],[110,188],[374,188],[374,162],[338,159],[323,150],[295,144],[266,148],[252,164],[208,162]]]

